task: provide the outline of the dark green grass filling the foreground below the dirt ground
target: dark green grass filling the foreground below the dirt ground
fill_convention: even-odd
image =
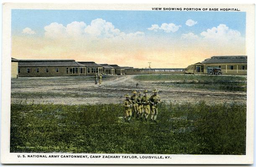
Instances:
[[[245,105],[162,103],[156,124],[124,123],[123,110],[121,104],[11,104],[10,152],[246,153]]]

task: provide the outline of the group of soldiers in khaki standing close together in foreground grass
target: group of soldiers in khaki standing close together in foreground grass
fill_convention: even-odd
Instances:
[[[143,92],[132,91],[132,96],[125,95],[124,100],[124,121],[130,123],[130,119],[133,116],[138,120],[147,121],[148,116],[151,114],[150,121],[156,122],[158,115],[158,104],[160,103],[160,96],[158,96],[158,90],[152,91],[153,95],[148,96],[148,91]],[[144,96],[142,96],[144,94]]]

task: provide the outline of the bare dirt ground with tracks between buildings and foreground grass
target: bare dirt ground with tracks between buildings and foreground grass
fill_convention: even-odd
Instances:
[[[157,88],[162,101],[184,103],[206,101],[207,104],[246,104],[246,92],[209,91],[159,86],[149,81],[136,81],[134,75],[107,76],[102,87],[94,84],[93,77],[34,77],[11,81],[11,103],[26,101],[35,104],[99,104],[122,103],[132,90],[149,92]],[[136,89],[136,83],[139,83]],[[152,93],[149,93],[151,95]]]

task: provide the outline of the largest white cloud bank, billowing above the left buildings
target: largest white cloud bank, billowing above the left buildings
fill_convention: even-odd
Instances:
[[[91,21],[90,25],[84,22],[74,21],[65,27],[59,23],[51,23],[44,27],[44,35],[47,38],[127,38],[142,37],[145,34],[137,31],[135,33],[126,34],[115,28],[111,22],[107,22],[101,18]]]

